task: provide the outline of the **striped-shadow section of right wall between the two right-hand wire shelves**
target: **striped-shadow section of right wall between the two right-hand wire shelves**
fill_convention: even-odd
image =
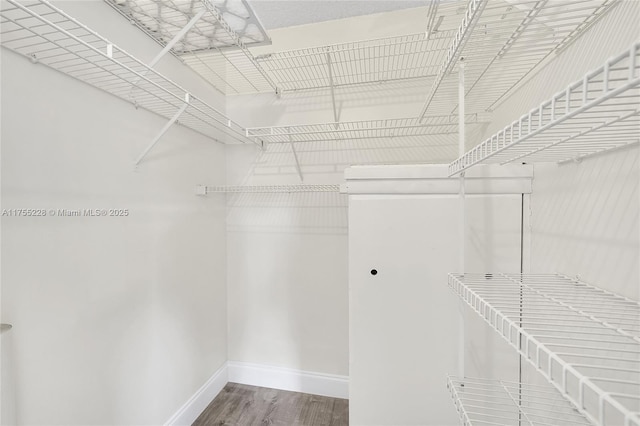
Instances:
[[[536,167],[532,269],[640,297],[639,150]]]

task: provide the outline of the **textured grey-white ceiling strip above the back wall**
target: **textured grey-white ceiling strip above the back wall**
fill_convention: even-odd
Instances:
[[[430,0],[249,0],[267,30],[426,6]]]

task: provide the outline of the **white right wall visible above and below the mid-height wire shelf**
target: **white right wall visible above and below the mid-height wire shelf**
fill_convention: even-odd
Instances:
[[[495,131],[640,38],[640,3],[622,1],[505,102]],[[640,134],[640,129],[638,129]],[[531,269],[579,275],[640,299],[638,148],[535,167]]]

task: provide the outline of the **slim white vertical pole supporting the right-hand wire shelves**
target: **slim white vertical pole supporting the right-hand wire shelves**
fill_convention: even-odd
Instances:
[[[465,153],[465,126],[464,126],[464,58],[460,58],[458,61],[458,156],[462,157]],[[464,203],[464,172],[460,173],[460,192],[459,192],[459,201],[460,201],[460,222],[459,222],[459,244],[458,247],[460,249],[460,272],[463,273],[465,271],[464,265],[464,250],[465,250],[465,203]],[[464,347],[465,347],[465,303],[461,299],[458,302],[458,339],[459,339],[459,348],[458,348],[458,373],[460,377],[464,380]]]

